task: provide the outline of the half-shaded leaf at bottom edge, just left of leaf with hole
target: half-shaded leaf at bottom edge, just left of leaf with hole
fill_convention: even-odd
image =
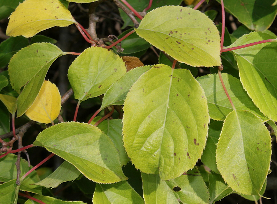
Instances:
[[[141,173],[146,204],[179,204],[174,191],[156,174]]]

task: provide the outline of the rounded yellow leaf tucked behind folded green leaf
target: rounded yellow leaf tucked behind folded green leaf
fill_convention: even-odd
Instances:
[[[45,80],[33,105],[25,114],[37,122],[53,123],[60,113],[61,101],[57,86]]]

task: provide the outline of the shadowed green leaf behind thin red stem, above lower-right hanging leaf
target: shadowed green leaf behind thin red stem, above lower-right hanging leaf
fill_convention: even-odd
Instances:
[[[222,78],[237,110],[248,110],[262,118],[263,121],[268,120],[254,105],[247,92],[243,90],[239,79],[229,74],[222,74]],[[209,74],[199,77],[197,80],[203,87],[208,99],[210,117],[214,120],[224,120],[233,111],[233,107],[223,90],[218,74]]]

